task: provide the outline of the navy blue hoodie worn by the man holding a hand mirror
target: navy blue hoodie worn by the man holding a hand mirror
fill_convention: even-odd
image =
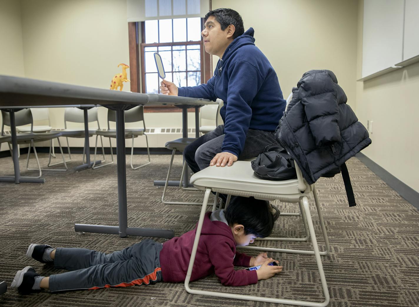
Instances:
[[[239,156],[248,129],[274,131],[285,110],[277,74],[255,46],[253,28],[236,37],[207,84],[178,88],[178,96],[220,98],[225,138],[221,150]]]

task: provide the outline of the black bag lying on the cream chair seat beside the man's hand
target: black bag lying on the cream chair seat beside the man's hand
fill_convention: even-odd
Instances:
[[[267,180],[290,180],[297,178],[294,160],[279,146],[269,148],[251,161],[256,176]]]

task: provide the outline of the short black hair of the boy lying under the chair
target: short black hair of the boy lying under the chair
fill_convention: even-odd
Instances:
[[[253,197],[233,196],[225,209],[225,219],[230,227],[241,224],[244,234],[254,234],[259,238],[271,234],[278,217],[279,210],[269,201]]]

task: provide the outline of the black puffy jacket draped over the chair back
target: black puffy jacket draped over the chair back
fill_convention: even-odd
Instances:
[[[345,161],[371,144],[367,129],[346,102],[330,70],[310,70],[292,88],[277,140],[309,184],[338,173]]]

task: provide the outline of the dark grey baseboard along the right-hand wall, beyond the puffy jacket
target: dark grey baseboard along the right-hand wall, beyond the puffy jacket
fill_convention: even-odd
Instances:
[[[362,163],[364,163],[372,172],[387,183],[393,190],[400,194],[409,203],[419,209],[419,193],[413,190],[408,185],[404,184],[385,169],[380,167],[377,163],[372,161],[365,154],[358,153],[355,155]]]

